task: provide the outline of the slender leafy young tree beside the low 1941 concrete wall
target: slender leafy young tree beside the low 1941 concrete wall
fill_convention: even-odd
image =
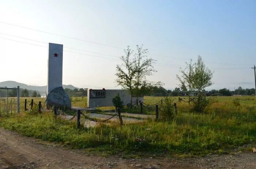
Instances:
[[[125,56],[121,56],[121,65],[116,66],[117,85],[126,89],[131,94],[131,105],[132,96],[136,97],[136,103],[142,95],[149,94],[153,89],[160,87],[161,82],[152,82],[146,79],[147,76],[153,75],[157,72],[153,63],[155,62],[152,58],[147,58],[147,49],[143,49],[142,46],[137,45],[137,53],[131,58],[133,51],[127,47]]]

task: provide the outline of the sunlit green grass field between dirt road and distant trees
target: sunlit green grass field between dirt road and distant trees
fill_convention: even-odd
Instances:
[[[160,99],[162,97],[145,97],[144,102],[154,104]],[[178,97],[173,99],[178,102]],[[35,103],[39,100],[44,101],[43,98],[34,98]],[[86,97],[72,99],[74,106],[83,107],[85,103]],[[21,110],[24,110],[23,104],[22,98]],[[75,122],[55,119],[49,113],[23,112],[10,117],[2,114],[0,126],[25,136],[107,154],[203,155],[225,153],[256,143],[255,97],[211,98],[203,115],[189,112],[189,105],[185,102],[177,103],[177,107],[178,114],[169,122],[145,120],[123,126],[110,122],[77,129]]]

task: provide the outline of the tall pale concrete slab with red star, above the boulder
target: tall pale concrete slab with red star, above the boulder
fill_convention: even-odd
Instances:
[[[47,93],[62,87],[63,45],[49,43]]]

